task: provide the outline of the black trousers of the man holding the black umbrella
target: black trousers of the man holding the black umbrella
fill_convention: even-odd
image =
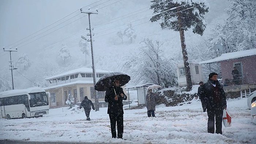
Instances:
[[[124,114],[109,114],[109,119],[110,119],[112,138],[116,138],[116,123],[117,123],[117,137],[123,138]]]

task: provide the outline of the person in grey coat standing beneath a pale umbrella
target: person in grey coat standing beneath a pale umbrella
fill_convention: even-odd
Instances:
[[[151,89],[147,91],[146,95],[146,107],[147,107],[147,116],[148,117],[155,117],[155,104],[156,103],[156,96],[152,92]]]

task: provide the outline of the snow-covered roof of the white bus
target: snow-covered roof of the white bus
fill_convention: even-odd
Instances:
[[[44,92],[44,91],[45,91],[44,89],[38,88],[38,87],[3,91],[3,92],[0,92],[0,98],[7,97],[7,96],[24,95],[24,94],[34,93],[34,92]]]

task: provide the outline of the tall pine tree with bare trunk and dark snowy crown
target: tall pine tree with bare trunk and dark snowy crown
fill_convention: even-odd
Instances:
[[[154,10],[155,14],[150,19],[151,22],[162,20],[162,23],[160,23],[162,29],[172,29],[180,32],[187,90],[190,91],[192,89],[192,80],[184,31],[187,31],[192,26],[193,33],[203,35],[206,28],[206,22],[204,22],[203,15],[208,12],[209,8],[202,2],[196,3],[192,2],[192,0],[153,0],[151,2],[153,3],[151,9]]]

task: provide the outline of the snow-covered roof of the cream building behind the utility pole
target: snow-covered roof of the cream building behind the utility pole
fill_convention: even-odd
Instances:
[[[109,73],[109,72],[111,72],[111,71],[105,71],[105,70],[101,70],[101,69],[96,69],[95,71],[96,71],[96,73]],[[59,75],[48,77],[45,80],[50,80],[50,79],[57,78],[57,77],[62,77],[62,76],[68,76],[68,75],[72,75],[72,74],[75,74],[75,73],[93,73],[93,69],[92,68],[78,68],[78,69],[74,69],[72,71],[61,73]]]

